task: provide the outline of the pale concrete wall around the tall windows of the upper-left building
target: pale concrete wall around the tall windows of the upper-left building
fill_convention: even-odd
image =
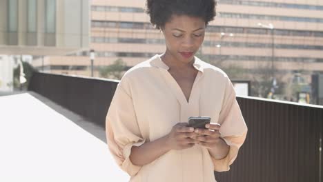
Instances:
[[[46,0],[37,0],[37,32],[28,32],[26,0],[17,3],[17,32],[8,32],[7,3],[0,0],[0,54],[64,55],[88,50],[89,1],[56,0],[53,33],[46,32]]]

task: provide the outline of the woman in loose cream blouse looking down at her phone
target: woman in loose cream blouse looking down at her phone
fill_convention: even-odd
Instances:
[[[228,76],[194,57],[214,0],[148,0],[166,51],[124,74],[106,117],[108,146],[130,181],[215,181],[246,139],[247,127]],[[188,117],[211,117],[207,129]]]

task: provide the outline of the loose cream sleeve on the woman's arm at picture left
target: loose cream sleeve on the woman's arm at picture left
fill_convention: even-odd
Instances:
[[[142,145],[133,100],[130,93],[118,84],[106,116],[106,138],[108,148],[117,164],[130,176],[135,176],[141,166],[134,165],[130,159],[131,148]]]

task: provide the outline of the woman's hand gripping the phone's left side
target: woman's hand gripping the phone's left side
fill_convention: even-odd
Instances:
[[[166,136],[166,145],[168,145],[170,150],[191,148],[197,143],[193,139],[195,136],[197,134],[194,132],[194,128],[188,127],[187,123],[177,123]]]

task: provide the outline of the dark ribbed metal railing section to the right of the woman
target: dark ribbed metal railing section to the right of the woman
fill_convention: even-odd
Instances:
[[[237,98],[248,136],[230,172],[219,181],[322,181],[323,107]]]

